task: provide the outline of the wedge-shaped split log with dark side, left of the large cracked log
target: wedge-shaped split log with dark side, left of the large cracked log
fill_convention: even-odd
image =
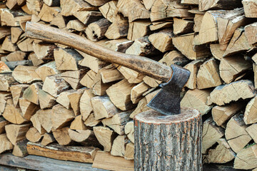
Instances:
[[[206,58],[209,51],[204,46],[193,46],[193,34],[189,33],[183,36],[172,38],[173,45],[188,59],[196,60]]]

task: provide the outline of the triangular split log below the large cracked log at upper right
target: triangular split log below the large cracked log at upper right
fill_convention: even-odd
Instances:
[[[246,34],[245,32],[243,32],[243,30],[244,30],[243,28],[236,29],[223,56],[231,56],[235,53],[248,51],[251,48],[253,48],[253,46],[248,43]]]

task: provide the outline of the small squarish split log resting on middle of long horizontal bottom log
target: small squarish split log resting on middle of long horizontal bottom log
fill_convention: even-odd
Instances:
[[[54,138],[59,143],[59,145],[71,145],[73,141],[71,140],[69,136],[69,128],[61,128],[59,130],[53,131]]]

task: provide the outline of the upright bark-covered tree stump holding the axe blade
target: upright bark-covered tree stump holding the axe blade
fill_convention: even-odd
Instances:
[[[155,110],[134,118],[134,170],[202,170],[201,114],[182,108],[179,115]]]

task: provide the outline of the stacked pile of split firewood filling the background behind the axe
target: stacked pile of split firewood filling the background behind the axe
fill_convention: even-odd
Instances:
[[[203,115],[203,162],[255,169],[256,11],[253,0],[0,2],[0,153],[133,170],[133,116],[160,90],[124,66],[27,38],[32,21],[187,68],[181,106]]]

